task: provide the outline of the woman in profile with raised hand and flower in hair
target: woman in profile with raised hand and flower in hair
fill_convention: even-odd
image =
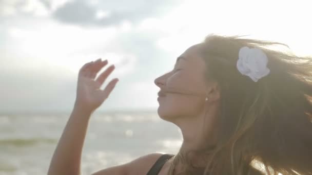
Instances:
[[[312,174],[312,59],[274,50],[277,42],[209,35],[155,79],[159,116],[180,127],[178,154],[150,154],[107,174]],[[85,64],[74,109],[49,174],[79,174],[88,121],[118,79],[113,65]],[[72,146],[75,145],[75,146]],[[256,166],[255,161],[264,165]]]

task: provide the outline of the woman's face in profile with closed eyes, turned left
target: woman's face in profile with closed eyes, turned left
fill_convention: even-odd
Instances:
[[[172,71],[154,80],[161,92],[164,90],[164,96],[158,98],[158,114],[162,119],[174,121],[198,115],[204,110],[208,84],[204,78],[206,64],[199,55],[201,47],[198,44],[187,49],[178,57]],[[167,89],[171,89],[170,92],[166,92]]]

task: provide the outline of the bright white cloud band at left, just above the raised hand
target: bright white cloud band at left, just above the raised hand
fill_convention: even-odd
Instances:
[[[110,62],[119,66],[116,72],[122,75],[135,65],[135,55],[106,50],[111,40],[124,30],[122,27],[85,29],[60,25],[54,20],[23,24],[4,25],[0,29],[0,43],[5,43],[0,45],[0,63],[7,63],[5,68],[0,65],[2,69],[36,69],[51,64],[77,73],[85,62],[110,57]]]

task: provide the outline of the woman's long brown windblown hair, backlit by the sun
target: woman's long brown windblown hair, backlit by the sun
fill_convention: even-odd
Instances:
[[[221,92],[217,143],[200,151],[209,155],[205,167],[192,166],[179,152],[169,174],[179,161],[184,174],[312,174],[312,57],[276,49],[286,48],[283,43],[241,36],[212,34],[202,44],[205,77],[218,82]],[[244,46],[268,57],[270,73],[257,82],[237,69]],[[255,161],[263,168],[255,168]]]

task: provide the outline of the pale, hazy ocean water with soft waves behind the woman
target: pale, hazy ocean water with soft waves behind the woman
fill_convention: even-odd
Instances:
[[[69,115],[0,115],[0,175],[47,174]],[[176,154],[181,144],[179,128],[160,119],[156,111],[95,112],[81,171],[91,174],[152,152]]]

